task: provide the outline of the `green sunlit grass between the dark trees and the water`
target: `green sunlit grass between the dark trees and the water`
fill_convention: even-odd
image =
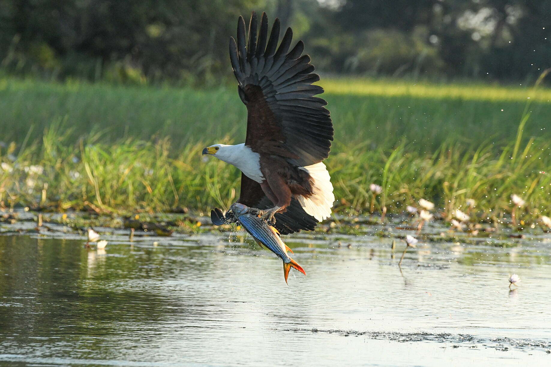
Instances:
[[[404,211],[420,198],[451,216],[477,202],[498,220],[551,209],[551,90],[533,86],[322,79],[336,129],[326,161],[341,212]],[[206,210],[239,196],[236,169],[203,160],[240,143],[234,85],[212,90],[0,79],[0,205],[98,212]]]

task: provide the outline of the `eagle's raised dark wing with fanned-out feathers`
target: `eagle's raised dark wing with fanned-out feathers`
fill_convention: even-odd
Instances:
[[[279,20],[268,39],[268,18],[262,13],[257,37],[257,17],[252,13],[249,40],[245,21],[239,17],[237,43],[230,39],[230,59],[239,96],[247,106],[245,145],[258,153],[285,157],[295,166],[309,166],[329,155],[333,124],[327,102],[314,97],[323,93],[312,74],[310,57],[302,55],[299,41],[289,51],[293,31],[288,28],[278,47]]]

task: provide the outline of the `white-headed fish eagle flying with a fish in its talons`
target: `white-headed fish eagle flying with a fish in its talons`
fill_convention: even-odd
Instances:
[[[268,38],[268,17],[252,13],[248,41],[245,20],[237,21],[237,43],[230,38],[230,61],[237,91],[247,107],[245,143],[214,144],[203,150],[241,170],[237,202],[258,209],[282,234],[313,230],[331,215],[334,195],[331,177],[322,161],[328,157],[333,124],[323,93],[312,85],[310,56],[302,55],[299,41],[289,51],[293,31],[288,28],[279,44],[279,20]],[[220,209],[211,212],[214,224],[231,220]]]

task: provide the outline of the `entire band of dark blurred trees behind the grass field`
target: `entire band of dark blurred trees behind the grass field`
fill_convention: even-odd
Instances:
[[[1,0],[0,71],[215,84],[253,9],[293,26],[326,72],[523,80],[551,67],[551,0]]]

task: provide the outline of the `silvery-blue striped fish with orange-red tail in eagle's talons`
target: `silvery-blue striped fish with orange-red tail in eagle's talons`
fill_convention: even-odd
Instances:
[[[285,283],[287,283],[287,277],[289,276],[289,270],[291,267],[300,271],[306,275],[302,266],[296,263],[287,255],[287,251],[291,250],[287,245],[283,243],[279,232],[276,228],[270,226],[265,220],[260,218],[258,214],[251,211],[251,208],[235,202],[231,205],[230,210],[234,213],[235,218],[241,223],[247,232],[255,239],[256,243],[262,247],[266,246],[270,251],[276,254],[283,260],[283,275],[285,276]]]

